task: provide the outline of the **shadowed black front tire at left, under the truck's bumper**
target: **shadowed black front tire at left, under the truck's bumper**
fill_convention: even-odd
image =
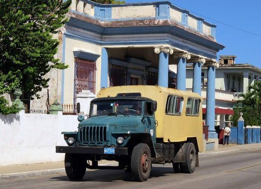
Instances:
[[[65,154],[65,172],[70,180],[81,180],[86,172],[85,159],[77,154]]]

